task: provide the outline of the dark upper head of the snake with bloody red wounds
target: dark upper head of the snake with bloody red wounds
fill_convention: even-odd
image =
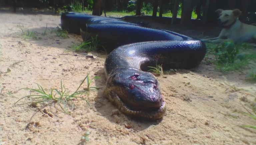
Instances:
[[[111,88],[115,88],[111,90],[120,98],[119,103],[128,110],[150,112],[158,110],[164,104],[159,83],[149,72],[121,70],[112,76],[111,84]]]

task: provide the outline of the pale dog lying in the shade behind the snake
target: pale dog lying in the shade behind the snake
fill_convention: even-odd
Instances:
[[[216,38],[202,39],[203,42],[221,43],[224,41],[233,41],[235,44],[256,40],[256,26],[248,25],[239,21],[238,17],[242,14],[239,9],[215,11],[219,14],[218,23],[223,29]],[[226,38],[226,39],[224,39]],[[253,44],[256,46],[255,44]]]

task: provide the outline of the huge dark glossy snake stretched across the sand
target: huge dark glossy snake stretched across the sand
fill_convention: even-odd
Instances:
[[[148,66],[162,64],[163,69],[190,69],[199,65],[206,54],[205,43],[172,31],[150,29],[113,18],[77,15],[62,15],[62,28],[80,29],[83,39],[89,32],[111,44],[104,65],[104,95],[127,115],[160,119],[166,114],[160,84],[147,72]],[[80,26],[76,24],[74,28],[67,23],[78,17]]]

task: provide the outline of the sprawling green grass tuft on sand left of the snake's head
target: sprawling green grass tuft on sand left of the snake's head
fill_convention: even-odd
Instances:
[[[74,98],[86,101],[86,103],[91,108],[89,102],[86,99],[80,97],[82,94],[89,95],[89,91],[85,91],[85,90],[78,91],[85,80],[87,80],[87,82],[89,82],[87,84],[88,90],[90,90],[91,88],[93,88],[93,89],[96,88],[96,87],[90,87],[91,80],[89,80],[88,76],[89,76],[89,73],[87,73],[87,76],[83,79],[82,83],[79,85],[79,87],[76,89],[76,91],[72,94],[69,94],[69,91],[67,91],[65,89],[65,86],[62,84],[62,80],[61,80],[61,82],[60,82],[61,83],[61,90],[51,89],[50,93],[46,93],[45,90],[42,88],[42,86],[40,86],[39,84],[37,84],[38,89],[21,88],[19,90],[25,89],[25,90],[30,90],[30,91],[37,92],[37,94],[28,95],[28,96],[22,97],[21,99],[31,98],[31,99],[37,100],[35,102],[32,102],[33,104],[38,104],[38,103],[42,103],[42,102],[50,102],[50,101],[57,102],[58,105],[61,107],[61,109],[67,114],[70,114],[67,111],[68,102],[73,100]],[[80,95],[80,96],[78,96],[78,95]],[[18,103],[21,99],[19,99],[16,103]],[[16,103],[14,103],[13,105],[15,105]],[[74,103],[72,104],[72,108],[74,108]]]

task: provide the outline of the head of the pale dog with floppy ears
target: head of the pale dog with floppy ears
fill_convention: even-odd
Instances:
[[[220,26],[231,25],[242,14],[242,12],[239,9],[234,9],[234,10],[218,9],[215,12],[218,13],[220,16],[217,19]]]

